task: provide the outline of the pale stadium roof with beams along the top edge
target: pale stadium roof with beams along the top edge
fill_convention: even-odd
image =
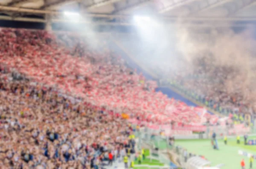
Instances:
[[[0,0],[0,19],[5,20],[35,21],[25,15],[58,19],[61,11],[79,11],[123,23],[134,14],[157,14],[166,20],[182,17],[195,22],[256,21],[256,0]]]

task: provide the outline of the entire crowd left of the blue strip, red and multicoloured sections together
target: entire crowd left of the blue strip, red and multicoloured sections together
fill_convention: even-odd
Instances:
[[[201,122],[193,108],[128,69],[108,37],[99,41],[0,30],[1,168],[98,169],[111,155],[134,149],[126,118]]]

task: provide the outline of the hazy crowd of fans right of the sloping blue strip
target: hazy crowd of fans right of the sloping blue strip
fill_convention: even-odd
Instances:
[[[255,90],[250,89],[253,84],[247,85],[247,74],[243,74],[237,66],[218,64],[218,60],[214,60],[207,52],[205,56],[186,58],[180,55],[178,49],[172,49],[176,45],[172,42],[165,48],[163,42],[159,41],[152,48],[151,41],[141,43],[143,38],[136,35],[116,39],[126,48],[132,49],[129,52],[136,56],[148,72],[160,78],[162,86],[172,85],[225,115],[256,112],[253,97]]]

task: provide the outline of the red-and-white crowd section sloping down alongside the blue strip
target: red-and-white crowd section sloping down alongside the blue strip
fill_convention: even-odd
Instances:
[[[125,60],[109,48],[108,37],[95,47],[88,45],[90,39],[64,32],[2,29],[0,39],[1,63],[95,106],[154,123],[183,121],[188,110],[194,112],[186,104],[154,92],[156,82],[128,69]],[[172,119],[166,107],[174,103],[180,114]],[[183,122],[200,122],[197,113],[193,115],[193,120],[184,118]]]

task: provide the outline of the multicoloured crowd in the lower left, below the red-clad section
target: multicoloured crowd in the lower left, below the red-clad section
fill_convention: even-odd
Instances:
[[[133,130],[124,119],[14,73],[0,72],[4,169],[98,169],[109,154],[117,158],[130,147],[128,135]]]

